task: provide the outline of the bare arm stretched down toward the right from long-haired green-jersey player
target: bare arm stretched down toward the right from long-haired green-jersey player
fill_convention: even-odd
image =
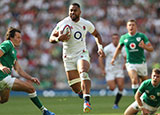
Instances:
[[[23,78],[25,78],[27,80],[30,80],[30,81],[38,84],[38,85],[40,84],[40,82],[39,82],[39,80],[37,78],[34,78],[34,77],[30,76],[29,74],[27,74],[25,71],[23,71],[23,69],[19,65],[18,61],[15,62],[14,69]]]

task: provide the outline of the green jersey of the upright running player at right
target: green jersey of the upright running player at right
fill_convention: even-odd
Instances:
[[[147,36],[143,33],[136,33],[134,36],[126,33],[121,36],[119,43],[125,46],[127,63],[142,64],[146,61],[144,49],[138,46],[142,40],[145,44],[149,43]]]

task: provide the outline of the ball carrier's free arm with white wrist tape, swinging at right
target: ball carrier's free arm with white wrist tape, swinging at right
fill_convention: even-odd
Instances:
[[[92,35],[95,37],[95,40],[96,40],[96,43],[97,43],[97,46],[98,46],[99,56],[100,57],[105,57],[105,54],[103,52],[102,38],[101,38],[100,34],[95,29],[94,32],[92,33]]]

